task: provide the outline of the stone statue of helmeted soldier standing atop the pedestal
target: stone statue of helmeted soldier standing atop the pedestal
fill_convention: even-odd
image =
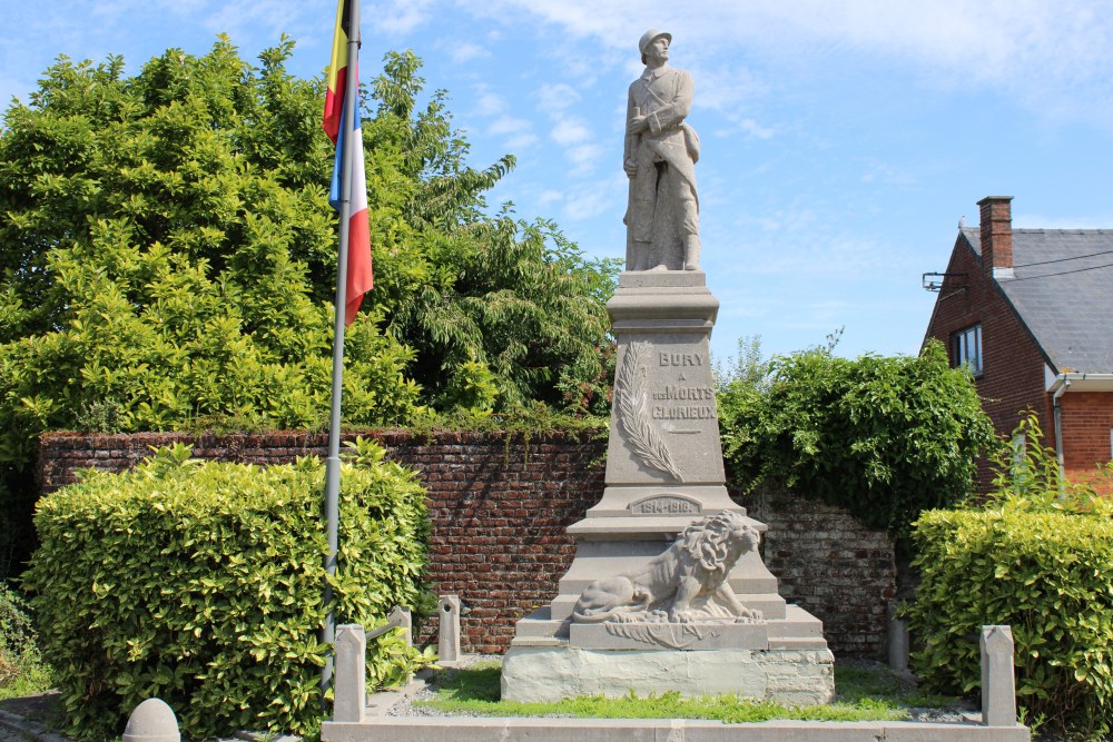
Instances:
[[[623,169],[630,178],[627,270],[699,270],[699,137],[684,122],[692,77],[668,67],[672,34],[646,31],[646,71],[630,85]]]

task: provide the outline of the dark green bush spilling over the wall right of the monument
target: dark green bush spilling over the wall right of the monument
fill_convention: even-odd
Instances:
[[[919,357],[831,349],[775,358],[767,388],[738,379],[720,394],[730,476],[746,491],[787,485],[904,540],[920,511],[972,491],[993,426],[938,344]]]

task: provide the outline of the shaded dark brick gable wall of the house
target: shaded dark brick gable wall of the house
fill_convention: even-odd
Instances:
[[[1034,409],[1047,444],[1055,445],[1051,402],[1044,388],[1043,354],[962,236],[951,255],[947,273],[961,275],[944,280],[927,336],[942,340],[954,360],[954,334],[981,323],[983,372],[976,384],[994,429],[1007,436],[1016,428],[1020,415]],[[988,489],[991,481],[988,464],[983,461],[978,466],[979,488]]]

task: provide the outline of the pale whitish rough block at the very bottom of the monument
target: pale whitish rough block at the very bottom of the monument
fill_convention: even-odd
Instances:
[[[581,695],[719,695],[789,705],[835,698],[830,650],[584,650],[567,643],[512,646],[502,661],[502,699],[552,703]]]

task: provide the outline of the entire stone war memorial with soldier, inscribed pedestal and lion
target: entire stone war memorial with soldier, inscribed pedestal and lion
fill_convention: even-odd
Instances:
[[[737,693],[834,698],[823,623],[778,594],[762,523],[727,494],[709,339],[719,301],[700,269],[691,76],[671,34],[639,42],[623,169],[626,270],[607,303],[618,342],[600,502],[571,525],[577,552],[550,605],[516,625],[502,698]]]

